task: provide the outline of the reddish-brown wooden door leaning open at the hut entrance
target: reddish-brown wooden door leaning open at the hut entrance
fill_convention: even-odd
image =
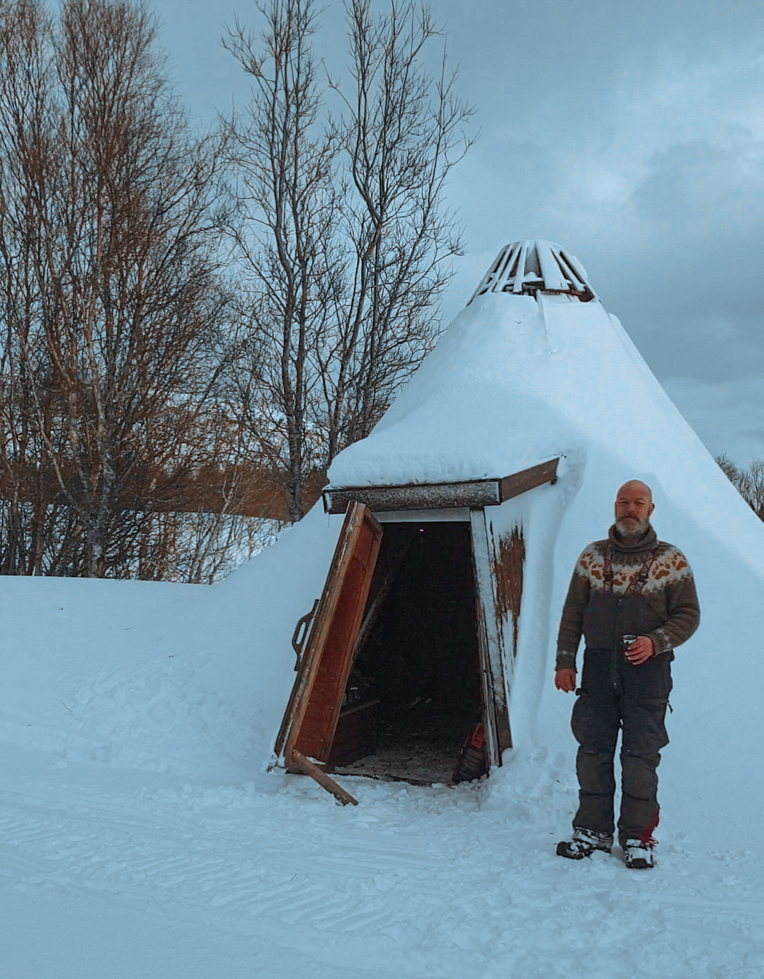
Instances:
[[[328,761],[381,539],[371,511],[351,503],[276,740],[287,769],[294,751]]]

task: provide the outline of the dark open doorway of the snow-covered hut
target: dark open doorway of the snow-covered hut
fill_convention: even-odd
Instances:
[[[470,525],[385,524],[330,768],[449,782],[482,713]]]

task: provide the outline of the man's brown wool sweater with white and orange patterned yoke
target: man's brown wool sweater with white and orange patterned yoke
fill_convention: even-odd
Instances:
[[[606,554],[610,552],[613,601],[603,600]],[[641,597],[619,603],[633,595],[632,581],[640,574],[645,559],[655,550]],[[597,601],[598,599],[598,601]],[[592,603],[595,602],[593,606]],[[622,623],[624,632],[649,635],[655,654],[667,653],[690,638],[700,621],[695,584],[690,564],[679,548],[659,541],[652,528],[635,544],[628,545],[611,527],[607,540],[590,544],[576,563],[573,579],[562,609],[557,637],[557,670],[575,669],[576,651],[582,633],[590,647],[609,647],[619,641],[615,610],[619,604],[631,608],[632,618]],[[596,613],[593,614],[593,608]]]

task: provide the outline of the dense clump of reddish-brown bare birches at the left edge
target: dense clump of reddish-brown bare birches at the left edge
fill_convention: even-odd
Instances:
[[[5,574],[177,567],[171,511],[225,431],[221,166],[141,7],[0,6]]]

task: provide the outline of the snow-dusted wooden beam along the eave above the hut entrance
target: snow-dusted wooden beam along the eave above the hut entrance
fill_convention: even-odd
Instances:
[[[409,483],[405,486],[329,487],[323,490],[327,513],[346,513],[351,501],[375,513],[389,510],[442,510],[453,507],[499,506],[544,483],[556,483],[559,458],[549,459],[503,478],[460,483]]]

